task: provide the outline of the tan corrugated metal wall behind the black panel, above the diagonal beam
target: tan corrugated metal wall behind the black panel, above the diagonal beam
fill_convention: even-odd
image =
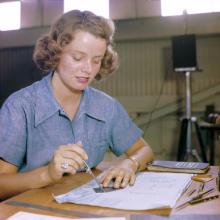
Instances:
[[[102,83],[94,83],[113,96],[164,95],[184,93],[184,74],[172,70],[169,39],[117,42],[119,70]],[[192,92],[220,82],[220,37],[197,39],[197,61],[202,72],[192,73]]]

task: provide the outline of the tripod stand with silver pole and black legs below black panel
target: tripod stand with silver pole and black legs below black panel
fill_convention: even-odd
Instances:
[[[179,149],[177,160],[178,161],[199,161],[207,162],[205,145],[202,140],[202,134],[198,125],[196,117],[192,117],[191,114],[191,75],[190,72],[185,72],[186,75],[186,115],[181,121],[181,131],[179,139]],[[196,149],[192,146],[192,128],[195,126],[196,135],[200,144],[201,156],[199,156]]]

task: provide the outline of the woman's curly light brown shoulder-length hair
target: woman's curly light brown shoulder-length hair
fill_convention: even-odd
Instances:
[[[63,14],[51,26],[49,33],[38,39],[33,54],[37,67],[43,72],[56,70],[63,48],[74,39],[74,33],[79,30],[106,40],[106,53],[96,79],[114,72],[118,67],[118,55],[113,48],[114,23],[92,12],[79,10]]]

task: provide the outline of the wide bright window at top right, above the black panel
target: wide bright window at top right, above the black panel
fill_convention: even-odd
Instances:
[[[161,15],[172,16],[220,11],[219,0],[161,0]]]

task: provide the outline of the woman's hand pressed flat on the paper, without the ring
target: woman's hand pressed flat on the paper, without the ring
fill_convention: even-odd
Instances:
[[[103,187],[108,187],[111,181],[113,181],[114,188],[124,188],[127,185],[134,185],[136,170],[132,163],[131,160],[125,159],[119,165],[106,170],[101,178]]]

